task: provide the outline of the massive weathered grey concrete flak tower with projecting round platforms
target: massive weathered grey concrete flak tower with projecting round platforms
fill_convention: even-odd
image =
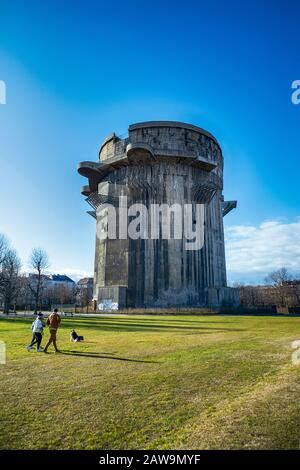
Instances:
[[[94,299],[99,309],[238,304],[237,290],[226,283],[223,232],[223,216],[236,201],[224,201],[222,151],[209,132],[172,121],[133,124],[126,138],[108,136],[99,162],[81,162],[78,172],[89,180],[81,192],[97,223]],[[115,209],[116,237],[103,236],[108,206]],[[175,236],[175,206],[184,208],[178,220],[190,219],[193,231],[202,227],[196,249],[187,248],[181,227]],[[127,217],[132,220],[132,207],[139,216],[143,208],[148,212],[144,228],[136,224],[140,235],[128,236],[121,225]],[[162,207],[171,208],[168,220],[174,222],[168,237],[162,236]],[[153,208],[158,214],[154,234]]]

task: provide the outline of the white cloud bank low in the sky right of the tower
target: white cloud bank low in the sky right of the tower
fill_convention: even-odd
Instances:
[[[300,218],[291,223],[271,220],[259,226],[225,228],[229,281],[262,282],[282,266],[300,272]]]

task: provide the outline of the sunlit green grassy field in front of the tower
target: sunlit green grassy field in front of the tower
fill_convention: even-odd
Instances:
[[[1,449],[299,449],[300,318],[63,319],[48,355],[31,322],[0,320]]]

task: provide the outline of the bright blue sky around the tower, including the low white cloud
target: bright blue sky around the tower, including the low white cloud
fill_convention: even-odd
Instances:
[[[2,0],[0,21],[0,232],[24,264],[42,246],[55,272],[93,271],[76,164],[166,119],[223,148],[229,280],[300,272],[298,1]]]

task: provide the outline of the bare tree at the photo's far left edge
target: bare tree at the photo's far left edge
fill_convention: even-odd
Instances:
[[[10,307],[16,301],[20,268],[21,260],[17,252],[8,250],[2,265],[4,313],[9,313]]]

